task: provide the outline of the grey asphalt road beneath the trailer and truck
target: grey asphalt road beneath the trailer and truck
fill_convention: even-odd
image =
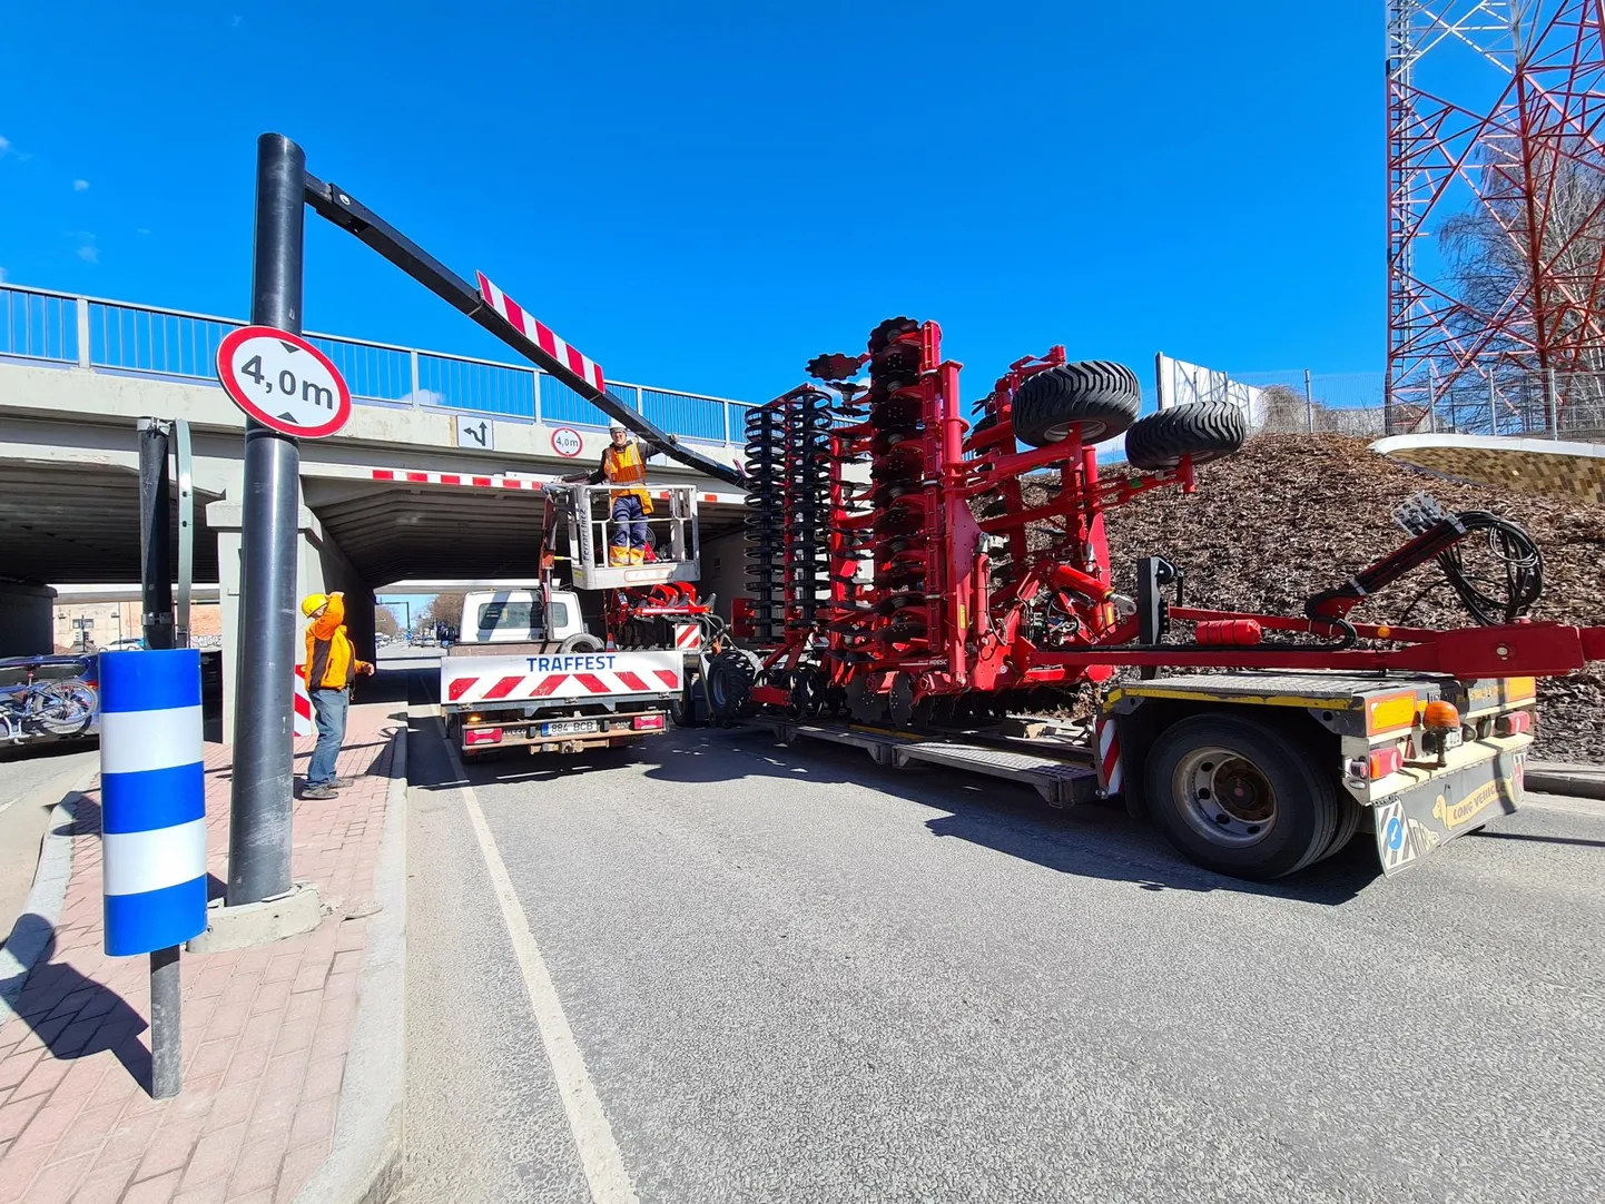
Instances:
[[[409,1204],[629,1198],[587,1186],[475,807],[640,1201],[1605,1177],[1599,804],[1252,888],[1124,814],[758,732],[459,775],[416,719],[409,767]]]

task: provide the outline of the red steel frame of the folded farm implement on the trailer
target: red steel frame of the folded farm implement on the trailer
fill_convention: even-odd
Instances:
[[[1101,478],[1074,422],[1061,441],[1022,446],[1016,393],[1035,374],[1064,366],[1063,347],[1010,364],[971,427],[960,409],[961,366],[944,360],[941,347],[936,323],[892,319],[876,327],[865,355],[811,363],[811,372],[833,382],[868,366],[873,384],[867,411],[855,400],[860,385],[833,385],[844,400],[836,406],[841,424],[828,433],[828,596],[820,597],[807,568],[788,562],[788,621],[762,657],[750,695],[758,706],[796,714],[847,705],[860,719],[907,724],[944,698],[968,698],[974,708],[976,698],[995,697],[982,706],[997,714],[1011,692],[1101,682],[1119,666],[1401,669],[1472,679],[1555,676],[1605,660],[1605,628],[1353,624],[1345,615],[1364,589],[1321,596],[1305,618],[1165,605],[1154,581],[1138,599],[1124,596],[1111,578],[1103,512],[1162,486],[1193,493],[1193,458]],[[801,385],[769,405],[794,405],[804,392],[820,390]],[[865,461],[867,485],[851,475]],[[1050,474],[1038,482],[1046,502],[1026,506],[1026,474]],[[774,504],[777,494],[764,496]],[[793,514],[798,498],[780,496]],[[995,512],[976,517],[973,504],[987,498]],[[1032,551],[1027,528],[1043,525],[1059,535]],[[1417,536],[1358,580],[1387,584],[1464,535]],[[985,538],[1006,546],[1000,576]],[[857,573],[860,559],[873,560],[873,580]],[[1059,620],[1046,628],[1045,615]],[[1172,620],[1193,623],[1194,639],[1162,644]],[[1266,633],[1284,639],[1265,642]],[[1298,636],[1323,642],[1286,639]],[[1356,647],[1361,641],[1367,647]]]

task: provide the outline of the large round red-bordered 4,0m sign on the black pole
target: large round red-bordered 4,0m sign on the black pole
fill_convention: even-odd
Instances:
[[[351,390],[323,352],[289,331],[242,326],[217,348],[234,405],[281,435],[327,438],[351,417]]]

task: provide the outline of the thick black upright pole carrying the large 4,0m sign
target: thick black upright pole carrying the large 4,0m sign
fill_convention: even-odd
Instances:
[[[307,156],[289,138],[265,133],[257,140],[250,321],[291,334],[302,329],[305,175]],[[247,421],[228,820],[231,907],[291,889],[299,477],[297,441]]]

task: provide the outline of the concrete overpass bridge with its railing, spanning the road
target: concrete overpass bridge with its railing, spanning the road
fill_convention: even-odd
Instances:
[[[223,652],[238,641],[246,421],[215,384],[238,321],[0,286],[0,655],[48,650],[50,586],[140,578],[141,417],[189,424],[196,581],[220,588]],[[533,366],[310,336],[345,374],[340,435],[302,443],[297,592],[343,589],[372,647],[376,592],[408,580],[530,580],[539,485],[591,469],[605,419]],[[608,382],[660,427],[738,462],[746,403]],[[695,483],[703,588],[742,588],[742,496],[677,464],[648,482]],[[177,530],[177,514],[175,514]],[[32,647],[29,647],[32,645]],[[225,730],[233,671],[225,668]]]

